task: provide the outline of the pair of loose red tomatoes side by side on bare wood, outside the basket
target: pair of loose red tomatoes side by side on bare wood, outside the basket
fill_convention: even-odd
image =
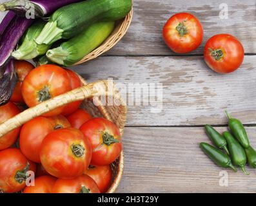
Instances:
[[[199,19],[192,14],[175,14],[164,25],[162,36],[175,53],[189,53],[197,49],[204,36]],[[239,40],[227,33],[214,35],[204,46],[204,61],[217,73],[231,73],[244,60],[244,48]]]

